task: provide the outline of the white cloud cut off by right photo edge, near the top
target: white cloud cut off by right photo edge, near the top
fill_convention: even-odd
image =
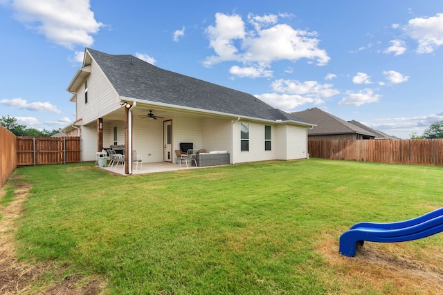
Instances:
[[[433,53],[443,45],[443,13],[410,19],[404,31],[408,37],[417,40],[417,53]]]

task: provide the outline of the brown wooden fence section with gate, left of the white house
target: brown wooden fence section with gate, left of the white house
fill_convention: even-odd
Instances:
[[[82,161],[81,140],[73,137],[17,137],[17,166]]]

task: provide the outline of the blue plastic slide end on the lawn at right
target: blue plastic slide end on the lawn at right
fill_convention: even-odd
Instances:
[[[443,231],[443,208],[400,222],[359,222],[340,236],[340,254],[354,257],[357,243],[405,242]]]

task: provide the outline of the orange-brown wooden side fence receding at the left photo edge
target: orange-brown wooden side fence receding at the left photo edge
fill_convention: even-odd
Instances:
[[[0,189],[17,168],[16,146],[14,133],[0,126]]]

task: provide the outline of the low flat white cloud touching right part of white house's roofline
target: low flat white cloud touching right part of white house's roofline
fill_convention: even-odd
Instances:
[[[279,93],[264,93],[261,95],[255,95],[255,97],[273,106],[274,108],[280,108],[284,111],[293,111],[297,106],[302,106],[303,104],[324,103],[322,99]]]

